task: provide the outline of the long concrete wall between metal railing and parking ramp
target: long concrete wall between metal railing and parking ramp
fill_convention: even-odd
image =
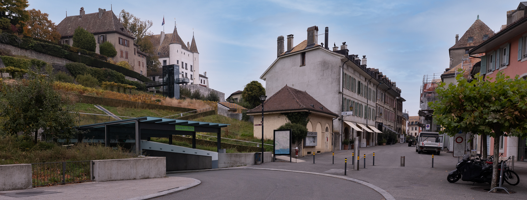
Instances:
[[[97,182],[160,178],[167,174],[165,157],[96,160],[93,163],[93,176]]]

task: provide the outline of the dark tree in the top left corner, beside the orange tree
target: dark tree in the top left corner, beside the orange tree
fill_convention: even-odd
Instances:
[[[5,25],[7,20],[9,20],[11,27],[8,28],[22,33],[23,29],[21,27],[24,27],[25,22],[30,19],[30,14],[25,10],[27,6],[29,6],[27,0],[0,1],[0,22],[2,22],[2,25]]]

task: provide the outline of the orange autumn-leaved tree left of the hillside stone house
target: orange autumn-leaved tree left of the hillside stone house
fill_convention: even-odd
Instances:
[[[26,26],[24,26],[24,32],[27,36],[53,42],[58,42],[61,39],[57,26],[47,18],[47,13],[41,13],[40,10],[34,8],[28,10],[28,12],[30,19],[27,20]]]

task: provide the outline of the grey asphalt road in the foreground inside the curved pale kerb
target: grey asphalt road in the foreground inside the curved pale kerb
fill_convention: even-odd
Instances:
[[[384,199],[371,188],[340,178],[268,170],[219,170],[176,174],[201,184],[155,199]]]

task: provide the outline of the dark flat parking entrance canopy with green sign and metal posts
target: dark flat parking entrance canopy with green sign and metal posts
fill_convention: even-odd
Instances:
[[[230,124],[199,122],[155,117],[132,118],[104,123],[81,125],[77,130],[79,142],[101,142],[106,146],[124,146],[136,153],[141,151],[141,140],[151,137],[169,138],[172,135],[192,135],[192,148],[196,149],[196,132],[217,133],[218,150],[221,148],[221,128]]]

